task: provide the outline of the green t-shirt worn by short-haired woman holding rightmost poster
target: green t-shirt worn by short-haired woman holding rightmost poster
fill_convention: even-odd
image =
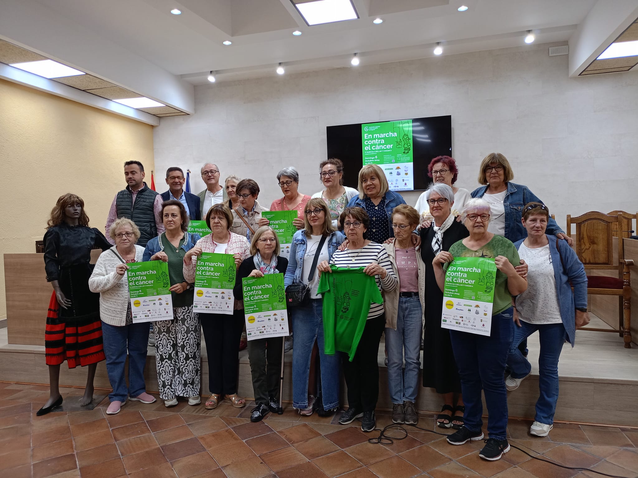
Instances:
[[[492,257],[493,259],[497,256],[504,256],[514,267],[519,265],[520,261],[518,250],[516,250],[514,243],[496,234],[494,234],[490,242],[479,250],[468,249],[463,245],[463,240],[457,241],[450,247],[450,254],[454,257]],[[445,264],[445,270],[447,270],[448,265]],[[512,294],[507,289],[507,275],[497,269],[492,315],[500,314],[510,307],[512,307]]]

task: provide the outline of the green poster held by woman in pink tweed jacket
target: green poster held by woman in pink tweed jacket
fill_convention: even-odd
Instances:
[[[232,314],[236,270],[232,254],[202,252],[195,269],[193,312]]]

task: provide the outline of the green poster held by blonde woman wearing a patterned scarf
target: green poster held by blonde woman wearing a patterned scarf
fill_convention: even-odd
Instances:
[[[242,279],[248,340],[288,336],[283,274]]]

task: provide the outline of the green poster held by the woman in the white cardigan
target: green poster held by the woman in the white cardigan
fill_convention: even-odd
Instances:
[[[168,264],[162,261],[146,261],[126,265],[133,322],[172,319],[173,303],[168,290]]]

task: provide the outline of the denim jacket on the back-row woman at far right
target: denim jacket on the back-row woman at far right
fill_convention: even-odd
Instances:
[[[487,187],[486,185],[475,189],[471,192],[471,196],[473,198],[482,198],[487,191]],[[527,186],[513,182],[507,183],[507,194],[505,194],[505,199],[503,199],[503,206],[505,207],[505,237],[510,241],[516,242],[527,237],[527,231],[521,223],[521,218],[523,217],[523,207],[531,202],[542,203],[543,201],[538,199]],[[565,234],[565,231],[559,228],[556,221],[551,217],[547,222],[546,232],[551,236],[555,236],[558,233]]]

